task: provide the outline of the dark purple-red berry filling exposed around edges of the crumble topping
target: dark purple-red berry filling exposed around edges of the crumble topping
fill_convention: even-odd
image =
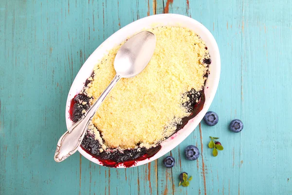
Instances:
[[[204,59],[204,63],[210,64],[210,59]],[[206,77],[208,74],[206,74]],[[91,81],[86,80],[85,86],[87,86]],[[180,124],[177,124],[176,132],[183,129],[183,127],[188,123],[188,121],[194,117],[202,110],[205,95],[204,91],[195,91],[191,89],[189,92],[186,92],[186,96],[189,100],[183,103],[183,106],[187,108],[188,112],[191,112],[189,117],[183,117]],[[85,94],[78,94],[71,100],[71,108],[70,108],[70,117],[72,121],[77,122],[84,114],[82,114],[82,110],[88,110],[90,108],[90,98]],[[84,104],[83,102],[87,102]],[[98,140],[94,139],[94,135],[86,133],[81,147],[85,149],[87,153],[95,158],[99,159],[105,166],[108,167],[117,167],[120,164],[123,164],[126,167],[131,167],[135,165],[135,163],[139,160],[144,160],[146,158],[150,158],[154,156],[160,149],[161,145],[157,145],[156,147],[152,147],[150,149],[146,149],[145,147],[136,148],[136,149],[106,149],[100,152],[101,144]]]

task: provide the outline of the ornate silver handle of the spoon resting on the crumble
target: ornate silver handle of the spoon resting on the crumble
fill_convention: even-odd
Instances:
[[[83,137],[86,133],[89,123],[92,120],[95,112],[103,102],[103,100],[110,93],[110,90],[115,86],[115,84],[120,80],[120,76],[116,75],[110,85],[101,94],[101,96],[95,101],[91,108],[85,113],[85,115],[76,122],[62,137],[60,137],[57,148],[55,152],[54,159],[56,162],[61,162],[73,155],[78,147],[80,146]]]

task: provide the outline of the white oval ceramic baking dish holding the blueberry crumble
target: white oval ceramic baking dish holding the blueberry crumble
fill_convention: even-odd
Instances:
[[[206,46],[208,47],[209,54],[211,56],[212,63],[209,66],[210,74],[206,80],[205,84],[205,103],[201,112],[194,117],[193,119],[189,120],[189,122],[184,126],[183,129],[175,133],[173,136],[167,138],[161,143],[161,150],[154,156],[147,158],[142,161],[137,161],[135,165],[138,166],[142,164],[146,164],[155,160],[167,152],[175,148],[179,145],[188,135],[194,131],[194,129],[198,126],[201,119],[204,117],[205,113],[209,109],[211,102],[215,96],[217,91],[217,87],[219,84],[219,77],[220,77],[220,55],[218,45],[216,40],[208,31],[206,27],[204,27],[200,22],[194,20],[192,18],[178,15],[178,14],[159,14],[148,16],[146,18],[136,20],[127,26],[123,27],[122,29],[115,32],[111,35],[108,39],[106,39],[92,54],[91,56],[85,61],[81,69],[79,70],[77,76],[75,77],[73,84],[70,88],[69,95],[67,98],[66,103],[66,125],[69,129],[73,123],[69,117],[69,109],[70,103],[72,98],[76,94],[78,94],[84,86],[85,80],[89,78],[92,74],[92,70],[94,65],[103,58],[108,51],[113,48],[114,46],[120,44],[128,37],[133,36],[134,34],[141,32],[147,28],[153,28],[157,26],[180,26],[188,28],[195,33],[197,33],[202,40],[205,41]],[[91,162],[94,162],[99,165],[103,165],[98,159],[88,154],[84,151],[81,147],[78,148],[78,151],[81,155],[85,156]],[[118,168],[125,168],[123,164],[119,165]]]

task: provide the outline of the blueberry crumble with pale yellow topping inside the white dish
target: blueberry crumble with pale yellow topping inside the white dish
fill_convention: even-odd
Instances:
[[[148,29],[156,36],[156,48],[145,70],[123,78],[112,89],[92,119],[82,142],[105,165],[149,157],[160,143],[182,129],[204,103],[204,83],[211,59],[194,32],[181,27]],[[115,76],[113,48],[94,67],[70,109],[77,122]]]

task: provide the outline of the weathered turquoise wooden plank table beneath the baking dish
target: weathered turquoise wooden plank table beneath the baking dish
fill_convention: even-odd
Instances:
[[[289,0],[0,0],[0,195],[291,195],[292,2]],[[73,78],[94,49],[153,14],[192,17],[214,35],[221,78],[203,122],[163,158],[129,169],[53,156]],[[228,130],[239,118],[241,133]],[[220,137],[217,157],[209,136]],[[184,158],[197,145],[197,161]],[[193,176],[178,186],[181,172]]]

